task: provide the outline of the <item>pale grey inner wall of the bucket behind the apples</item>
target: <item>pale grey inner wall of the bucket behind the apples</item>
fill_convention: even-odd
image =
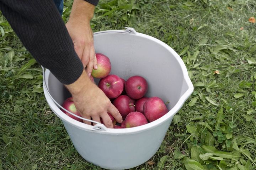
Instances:
[[[178,56],[169,46],[144,34],[98,33],[94,35],[96,53],[110,58],[112,69],[127,80],[134,75],[144,77],[148,82],[145,96],[157,96],[170,110],[188,90]],[[99,79],[95,79],[98,83]],[[70,97],[68,90],[52,73],[49,75],[48,88],[52,97],[59,103]]]

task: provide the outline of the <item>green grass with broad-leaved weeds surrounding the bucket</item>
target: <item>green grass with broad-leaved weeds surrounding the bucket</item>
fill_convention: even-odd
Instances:
[[[65,22],[70,8],[65,1]],[[134,170],[255,169],[255,12],[252,0],[100,1],[94,32],[128,26],[160,39],[181,55],[194,84],[151,164]],[[46,103],[39,64],[2,15],[0,31],[0,169],[101,169],[76,152]],[[202,146],[234,158],[207,159]]]

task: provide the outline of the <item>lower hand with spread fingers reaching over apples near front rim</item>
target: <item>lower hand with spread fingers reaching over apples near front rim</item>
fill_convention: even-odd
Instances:
[[[107,128],[113,128],[113,123],[107,113],[110,113],[118,123],[123,119],[116,107],[102,90],[91,82],[85,70],[80,78],[70,85],[65,85],[73,96],[74,104],[83,118],[103,123]],[[84,123],[91,125],[91,122]]]

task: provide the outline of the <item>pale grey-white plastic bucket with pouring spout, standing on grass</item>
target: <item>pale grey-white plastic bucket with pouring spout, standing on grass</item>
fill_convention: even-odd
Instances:
[[[91,131],[94,126],[68,117],[53,102],[50,95],[62,104],[70,94],[48,69],[44,75],[44,95],[85,160],[106,169],[133,168],[149,160],[159,149],[173,116],[193,92],[193,85],[185,64],[170,46],[133,28],[96,32],[94,46],[96,52],[110,58],[110,74],[125,80],[133,75],[143,76],[149,84],[146,96],[170,101],[167,104],[170,111],[143,126]]]

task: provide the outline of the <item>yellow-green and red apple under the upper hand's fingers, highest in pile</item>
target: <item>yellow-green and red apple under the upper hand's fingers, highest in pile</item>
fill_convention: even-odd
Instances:
[[[91,75],[99,79],[107,77],[107,75],[111,71],[110,59],[101,53],[96,53],[96,59],[97,59],[98,69],[97,70],[92,69]]]

